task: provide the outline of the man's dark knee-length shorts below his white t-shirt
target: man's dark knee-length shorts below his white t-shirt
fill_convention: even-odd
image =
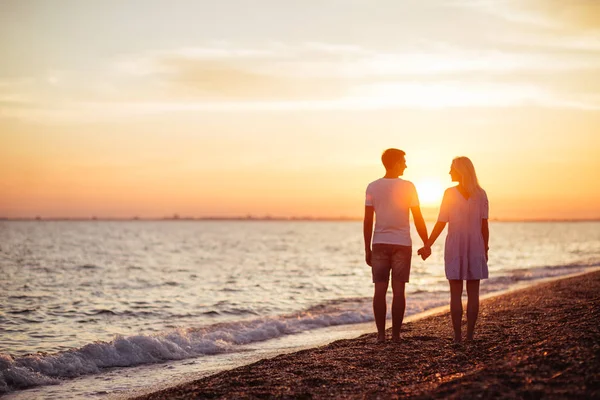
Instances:
[[[392,271],[393,281],[408,282],[411,258],[412,246],[373,244],[371,253],[373,283],[389,282],[390,271]]]

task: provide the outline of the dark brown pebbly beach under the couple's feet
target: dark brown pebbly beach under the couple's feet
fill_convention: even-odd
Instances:
[[[410,301],[410,299],[408,300]],[[600,271],[484,300],[476,340],[448,313],[261,360],[137,399],[600,398]]]

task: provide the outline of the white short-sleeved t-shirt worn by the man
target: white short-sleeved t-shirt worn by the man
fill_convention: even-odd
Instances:
[[[417,189],[401,178],[380,178],[369,183],[365,205],[375,209],[373,244],[411,246],[409,209],[419,205]]]

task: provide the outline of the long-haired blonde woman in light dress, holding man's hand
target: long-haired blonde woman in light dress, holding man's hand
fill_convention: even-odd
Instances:
[[[438,221],[427,244],[419,250],[425,258],[448,223],[444,249],[446,278],[450,283],[450,314],[454,341],[460,342],[463,281],[467,281],[467,336],[473,340],[479,313],[479,281],[488,278],[488,199],[479,186],[473,163],[467,157],[452,160],[450,177],[457,186],[444,193]]]

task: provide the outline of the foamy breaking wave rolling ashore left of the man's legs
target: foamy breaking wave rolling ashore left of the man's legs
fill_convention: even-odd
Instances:
[[[368,303],[365,303],[368,304]],[[116,337],[55,354],[12,357],[0,354],[0,393],[56,384],[64,378],[97,374],[105,368],[131,367],[234,351],[235,346],[335,325],[373,319],[370,307],[355,311],[303,312],[205,328],[180,328],[155,335]]]

